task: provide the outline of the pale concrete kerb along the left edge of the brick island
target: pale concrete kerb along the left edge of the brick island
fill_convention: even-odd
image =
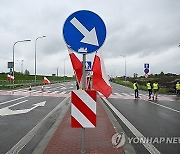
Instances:
[[[57,111],[58,109],[62,108],[62,112],[60,116],[56,119],[55,123],[52,125],[51,129],[46,133],[44,138],[39,142],[39,144],[36,146],[36,148],[33,150],[32,154],[40,154],[43,153],[44,150],[46,149],[49,141],[51,140],[53,134],[59,127],[61,121],[63,120],[64,116],[66,115],[66,112],[68,111],[70,107],[70,96],[66,97],[63,102],[61,102],[55,109],[54,112]]]

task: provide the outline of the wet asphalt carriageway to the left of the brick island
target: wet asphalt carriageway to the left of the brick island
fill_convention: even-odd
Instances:
[[[17,89],[13,91],[0,91],[0,153],[8,152],[28,132],[40,123],[70,91],[75,89],[74,82]],[[37,135],[34,143],[22,153],[31,153],[36,144],[54,123],[57,115],[50,117],[41,133]],[[36,136],[36,135],[35,135]]]

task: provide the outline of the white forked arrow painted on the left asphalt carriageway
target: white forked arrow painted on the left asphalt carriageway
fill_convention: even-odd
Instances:
[[[19,102],[19,103],[16,103],[16,104],[13,104],[13,105],[10,105],[8,107],[5,107],[5,108],[2,108],[0,109],[0,115],[1,116],[7,116],[7,115],[15,115],[15,114],[23,114],[23,113],[28,113],[30,112],[31,110],[39,107],[39,106],[44,106],[46,101],[43,101],[43,102],[40,102],[40,103],[36,103],[36,104],[33,104],[33,107],[30,108],[30,109],[22,109],[22,110],[11,110],[9,109],[10,107],[13,107],[13,106],[16,106],[18,104],[22,104],[22,103],[25,103],[27,102],[28,100],[24,100],[22,102]]]

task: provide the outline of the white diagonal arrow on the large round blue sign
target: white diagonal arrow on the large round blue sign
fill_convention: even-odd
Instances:
[[[99,46],[95,27],[89,32],[75,17],[70,22],[84,35],[80,42]]]

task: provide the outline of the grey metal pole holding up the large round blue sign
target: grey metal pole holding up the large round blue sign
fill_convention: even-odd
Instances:
[[[86,88],[86,73],[85,73],[85,64],[86,64],[86,54],[83,54],[83,76],[82,76],[82,89]],[[85,128],[82,128],[82,145],[81,145],[81,154],[85,154]]]

